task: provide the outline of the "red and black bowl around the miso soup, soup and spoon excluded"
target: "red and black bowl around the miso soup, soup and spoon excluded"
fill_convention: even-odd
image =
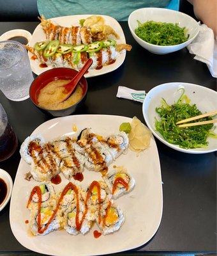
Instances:
[[[50,70],[47,70],[40,74],[40,76],[36,77],[34,79],[33,83],[31,84],[29,88],[29,97],[34,103],[34,105],[39,108],[44,113],[49,113],[52,116],[68,116],[71,113],[74,113],[77,108],[80,108],[80,106],[84,103],[86,99],[86,93],[87,93],[87,80],[83,76],[82,79],[80,79],[80,86],[82,88],[82,98],[75,104],[71,105],[68,108],[64,109],[46,109],[41,108],[38,106],[38,95],[40,90],[45,87],[48,83],[57,80],[57,79],[73,79],[75,75],[77,74],[77,70],[74,70],[72,68],[52,68]]]

